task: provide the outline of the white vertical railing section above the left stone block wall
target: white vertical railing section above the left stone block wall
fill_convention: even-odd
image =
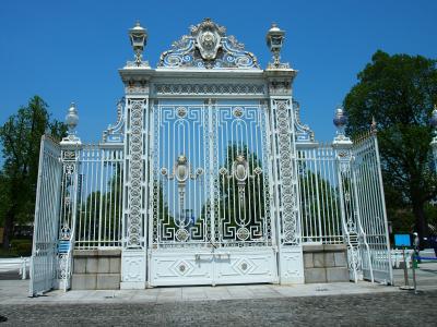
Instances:
[[[64,160],[60,226],[74,226],[74,249],[120,247],[123,148],[82,145],[75,174],[69,165]]]

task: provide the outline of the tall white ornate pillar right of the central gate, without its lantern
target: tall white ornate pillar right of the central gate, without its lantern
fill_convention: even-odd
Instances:
[[[304,258],[292,107],[292,82],[296,71],[269,66],[265,75],[270,95],[271,164],[274,179],[280,283],[303,283]]]

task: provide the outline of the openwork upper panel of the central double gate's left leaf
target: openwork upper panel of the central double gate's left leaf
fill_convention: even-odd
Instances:
[[[211,239],[209,110],[204,104],[154,107],[153,237],[162,246]]]

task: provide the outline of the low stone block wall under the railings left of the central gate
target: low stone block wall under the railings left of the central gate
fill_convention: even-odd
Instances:
[[[72,290],[120,289],[120,250],[74,250]]]

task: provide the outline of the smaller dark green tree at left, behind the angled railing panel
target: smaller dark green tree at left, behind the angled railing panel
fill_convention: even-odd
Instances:
[[[0,126],[4,158],[0,172],[0,220],[4,226],[4,249],[11,241],[14,223],[33,219],[42,135],[49,131],[60,138],[67,132],[63,123],[51,120],[47,109],[47,104],[34,96]]]

